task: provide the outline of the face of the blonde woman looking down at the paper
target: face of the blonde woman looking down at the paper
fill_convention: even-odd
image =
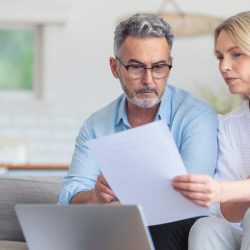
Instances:
[[[222,30],[215,43],[215,55],[230,92],[250,97],[250,54],[239,48],[229,33]]]

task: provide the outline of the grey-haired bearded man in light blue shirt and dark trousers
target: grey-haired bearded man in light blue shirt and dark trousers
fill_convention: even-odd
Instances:
[[[113,202],[115,194],[90,156],[86,141],[155,120],[169,126],[188,172],[214,173],[216,114],[187,92],[167,86],[172,43],[170,26],[156,15],[136,14],[117,26],[110,67],[124,94],[85,121],[59,203]],[[196,219],[150,227],[156,249],[187,248],[189,229]]]

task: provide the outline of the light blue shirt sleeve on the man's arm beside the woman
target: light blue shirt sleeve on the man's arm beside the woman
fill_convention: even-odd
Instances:
[[[217,115],[206,108],[193,115],[182,131],[180,154],[189,173],[214,175],[217,155]]]

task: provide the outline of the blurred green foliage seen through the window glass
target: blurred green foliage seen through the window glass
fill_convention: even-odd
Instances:
[[[32,90],[35,32],[0,29],[0,91]]]

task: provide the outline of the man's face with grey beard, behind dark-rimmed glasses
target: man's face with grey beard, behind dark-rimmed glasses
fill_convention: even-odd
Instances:
[[[154,71],[161,70],[162,65],[171,64],[170,50],[165,38],[137,38],[128,36],[119,51],[119,59],[110,59],[113,75],[119,78],[121,86],[130,105],[140,108],[152,108],[159,104],[164,94],[169,76],[156,78],[151,69],[147,69],[141,76],[135,77],[128,72],[126,65],[137,67],[154,67]],[[130,67],[131,69],[131,67]]]

